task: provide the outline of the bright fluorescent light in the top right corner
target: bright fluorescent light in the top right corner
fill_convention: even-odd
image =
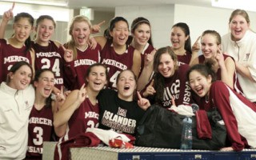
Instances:
[[[255,0],[211,0],[211,6],[256,12]]]

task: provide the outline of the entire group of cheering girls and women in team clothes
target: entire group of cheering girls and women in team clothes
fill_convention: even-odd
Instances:
[[[14,6],[4,14],[0,33],[13,16],[13,9]],[[242,44],[255,35],[249,30],[248,15],[241,12],[234,10],[231,14],[231,34],[226,41],[231,44],[242,41],[238,47],[246,47]],[[248,26],[238,24],[241,21]],[[232,52],[229,44],[226,45],[227,49],[220,47],[226,43],[221,42],[216,31],[206,30],[198,38],[201,40],[203,55],[197,57],[198,41],[192,50],[189,27],[186,23],[177,23],[171,29],[172,46],[155,50],[150,40],[150,22],[146,18],[134,19],[131,26],[132,40],[129,41],[129,25],[122,17],[113,18],[107,36],[95,37],[97,44],[90,47],[90,33],[97,31],[100,24],[92,26],[84,16],[73,18],[69,30],[71,40],[62,46],[50,40],[55,28],[53,18],[47,15],[39,17],[35,26],[36,38],[30,41],[33,23],[34,18],[30,14],[17,14],[14,17],[14,35],[1,39],[2,98],[15,102],[18,93],[21,92],[24,97],[26,90],[31,96],[26,96],[28,100],[19,99],[21,102],[15,103],[16,108],[10,108],[8,103],[5,108],[0,107],[0,158],[42,157],[42,142],[52,140],[52,133],[57,134],[61,141],[85,132],[88,127],[135,135],[136,124],[146,108],[150,107],[150,102],[168,109],[174,105],[173,100],[176,105],[198,102],[202,110],[218,108],[230,140],[230,147],[222,150],[242,150],[244,147],[256,146],[253,141],[255,120],[250,121],[256,119],[255,101],[251,98],[252,90],[244,90],[244,85],[248,85],[245,82],[255,86],[253,47],[251,50],[244,49],[250,54],[240,60],[239,56],[232,55],[237,53]],[[250,38],[243,39],[247,32],[250,32]],[[238,34],[242,35],[239,37]],[[3,35],[0,36],[3,38]],[[227,56],[221,48],[232,53]],[[197,63],[206,63],[208,66],[195,65]],[[209,71],[209,68],[214,71]],[[221,81],[214,82],[214,74]],[[35,90],[31,89],[32,78]],[[240,81],[246,78],[239,86],[237,79]],[[63,86],[72,91],[64,94]],[[105,86],[110,89],[102,90]],[[141,90],[138,102],[134,101],[135,90]],[[242,91],[246,97],[243,97]],[[52,92],[55,98],[51,96]],[[222,96],[217,96],[219,94]],[[239,117],[241,114],[234,113],[234,110],[240,110],[238,104],[244,106],[242,114],[248,114],[248,118],[243,118],[242,122]],[[11,116],[12,121],[8,120],[9,114],[14,114]],[[19,123],[11,124],[13,122]],[[16,127],[15,133],[9,127]],[[6,138],[7,134],[9,138]],[[8,147],[14,146],[14,137],[19,137],[19,134],[25,136],[25,140],[18,140],[18,145],[15,145],[22,150],[10,150]]]

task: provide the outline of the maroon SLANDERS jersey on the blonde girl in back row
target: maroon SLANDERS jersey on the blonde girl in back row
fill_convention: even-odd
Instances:
[[[65,86],[69,90],[79,90],[85,83],[86,70],[90,65],[100,62],[101,49],[98,44],[94,50],[90,47],[87,47],[86,50],[76,49],[78,52],[77,59],[65,64]]]

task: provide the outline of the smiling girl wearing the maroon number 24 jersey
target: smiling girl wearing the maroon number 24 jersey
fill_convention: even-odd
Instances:
[[[36,21],[37,34],[32,48],[35,52],[35,70],[50,69],[54,72],[54,86],[58,89],[54,93],[57,94],[64,85],[64,50],[59,42],[50,40],[55,27],[54,18],[49,15],[40,16]]]

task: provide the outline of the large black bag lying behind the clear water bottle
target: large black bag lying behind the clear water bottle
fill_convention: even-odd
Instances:
[[[218,123],[219,115],[217,110],[207,113],[212,129],[212,139],[198,138],[196,118],[195,116],[191,117],[192,149],[219,150],[225,146],[226,126]],[[186,116],[166,110],[162,106],[150,106],[138,123],[135,145],[180,149],[183,118]]]

